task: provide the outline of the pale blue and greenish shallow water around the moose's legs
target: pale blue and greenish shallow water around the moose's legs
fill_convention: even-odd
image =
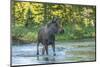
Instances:
[[[51,46],[49,46],[48,56],[42,55],[42,45],[39,47],[39,57],[36,55],[36,50],[36,43],[12,45],[12,65],[95,60],[95,41],[56,42],[56,56],[53,56]]]

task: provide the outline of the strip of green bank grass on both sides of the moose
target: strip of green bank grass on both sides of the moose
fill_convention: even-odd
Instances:
[[[89,37],[95,37],[94,32],[80,33],[80,31],[75,31],[75,30],[70,31],[69,29],[65,28],[65,32],[63,34],[57,34],[56,41],[70,41],[70,40],[79,40]],[[11,29],[12,39],[26,43],[36,42],[38,30],[39,27],[26,28],[24,26],[14,26]],[[93,34],[93,36],[91,34]]]

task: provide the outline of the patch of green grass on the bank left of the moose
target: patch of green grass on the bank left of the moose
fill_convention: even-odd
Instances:
[[[35,42],[37,39],[37,31],[35,28],[13,27],[12,38],[23,42]]]

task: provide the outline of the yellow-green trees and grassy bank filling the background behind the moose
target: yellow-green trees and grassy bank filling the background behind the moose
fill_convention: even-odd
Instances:
[[[39,28],[53,16],[61,19],[64,34],[56,40],[95,37],[96,7],[86,5],[12,2],[11,33],[13,40],[36,41]]]

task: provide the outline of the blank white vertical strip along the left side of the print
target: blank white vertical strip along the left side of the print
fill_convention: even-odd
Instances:
[[[0,67],[10,63],[10,0],[0,2]]]

